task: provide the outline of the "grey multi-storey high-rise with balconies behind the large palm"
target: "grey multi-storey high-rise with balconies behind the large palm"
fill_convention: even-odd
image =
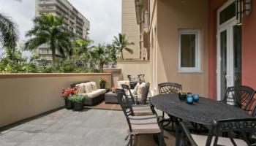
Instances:
[[[67,30],[75,33],[81,39],[88,39],[90,22],[67,0],[36,0],[36,16],[40,14],[52,14],[64,18],[64,26]],[[51,50],[48,45],[41,45],[36,50],[40,59],[46,62],[52,60]],[[56,50],[56,57],[61,54]],[[40,62],[40,61],[39,61]]]

